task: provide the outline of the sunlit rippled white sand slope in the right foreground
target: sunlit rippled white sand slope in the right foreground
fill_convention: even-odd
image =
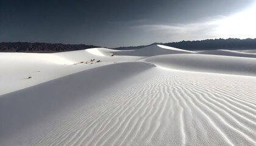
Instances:
[[[256,144],[255,77],[157,70],[28,145]]]

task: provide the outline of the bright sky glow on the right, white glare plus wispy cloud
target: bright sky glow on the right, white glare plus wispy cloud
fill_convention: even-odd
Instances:
[[[256,2],[249,9],[230,16],[214,16],[188,24],[147,24],[135,26],[160,38],[158,42],[214,38],[256,38]]]

